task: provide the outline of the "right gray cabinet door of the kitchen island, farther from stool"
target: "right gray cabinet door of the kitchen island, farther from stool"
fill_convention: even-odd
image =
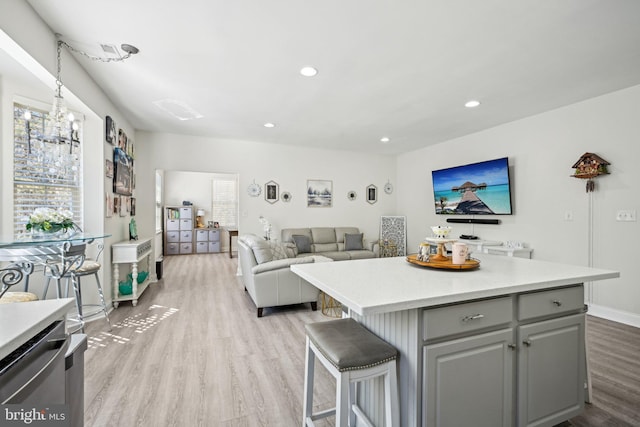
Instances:
[[[518,328],[518,426],[551,426],[584,407],[584,314]]]

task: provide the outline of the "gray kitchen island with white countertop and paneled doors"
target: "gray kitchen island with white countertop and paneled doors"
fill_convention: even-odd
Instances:
[[[403,426],[552,426],[584,407],[583,283],[616,271],[496,255],[435,270],[404,257],[297,264],[400,351]],[[548,363],[553,361],[553,363]],[[381,424],[382,386],[360,404]]]

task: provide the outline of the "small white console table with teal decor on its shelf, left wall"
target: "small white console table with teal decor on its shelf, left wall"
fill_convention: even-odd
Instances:
[[[138,263],[147,259],[147,268],[151,269],[151,239],[125,240],[111,246],[111,263],[113,264],[113,306],[118,308],[120,301],[131,301],[135,307],[138,298],[151,283],[151,271],[142,282],[138,283]],[[120,264],[131,264],[132,292],[129,295],[120,294]]]

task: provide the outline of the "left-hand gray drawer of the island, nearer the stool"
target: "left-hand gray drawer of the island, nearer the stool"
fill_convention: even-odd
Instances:
[[[423,339],[462,334],[499,325],[513,319],[511,297],[450,305],[424,311]]]

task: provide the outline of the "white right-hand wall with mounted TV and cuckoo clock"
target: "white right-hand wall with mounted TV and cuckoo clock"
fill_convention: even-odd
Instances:
[[[640,211],[639,117],[636,86],[398,156],[397,212],[407,216],[409,248],[430,225],[446,224],[435,215],[432,170],[508,156],[515,214],[499,217],[500,225],[450,224],[454,235],[521,240],[534,258],[588,265],[592,203],[593,266],[618,270],[621,277],[594,282],[591,312],[640,326],[640,228],[615,221],[619,209]],[[612,164],[591,194],[584,180],[570,177],[585,152]],[[573,221],[564,220],[568,211]]]

